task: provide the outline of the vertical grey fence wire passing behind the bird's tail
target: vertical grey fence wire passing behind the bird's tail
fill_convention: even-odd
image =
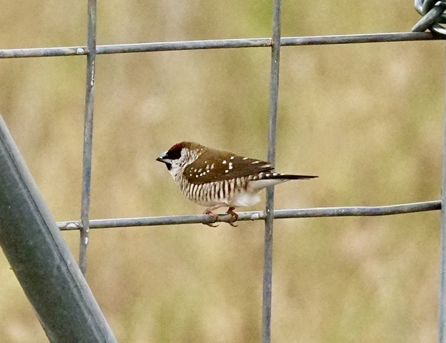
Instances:
[[[268,161],[275,164],[277,138],[277,103],[279,98],[280,0],[273,1],[270,75],[270,111],[268,127]],[[262,341],[271,341],[272,298],[272,227],[274,221],[274,187],[266,191],[266,220],[263,266]]]

